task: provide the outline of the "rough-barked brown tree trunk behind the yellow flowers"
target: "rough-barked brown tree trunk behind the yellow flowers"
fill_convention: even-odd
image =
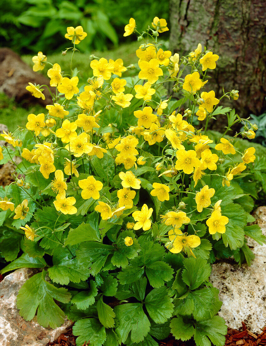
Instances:
[[[239,90],[229,102],[240,116],[266,108],[266,1],[170,0],[170,50],[187,54],[198,43],[219,55],[206,89],[220,97]],[[223,99],[225,104],[225,99]]]

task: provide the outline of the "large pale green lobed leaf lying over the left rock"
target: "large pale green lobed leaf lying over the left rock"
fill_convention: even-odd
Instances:
[[[67,289],[56,288],[45,281],[46,274],[46,271],[35,274],[22,285],[17,296],[17,307],[26,321],[32,320],[38,309],[38,323],[43,327],[56,328],[63,323],[65,314],[53,299],[67,303],[71,295]]]

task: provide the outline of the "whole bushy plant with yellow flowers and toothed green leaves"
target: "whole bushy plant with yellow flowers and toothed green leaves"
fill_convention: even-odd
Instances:
[[[39,268],[19,291],[20,315],[37,313],[52,328],[67,315],[77,345],[156,346],[169,333],[224,345],[210,263],[231,256],[250,263],[245,237],[265,241],[257,225],[247,225],[255,148],[234,145],[239,135],[254,138],[256,127],[222,106],[237,90],[219,99],[204,91],[218,55],[200,44],[172,55],[157,42],[167,30],[155,17],[139,33],[131,18],[124,35],[137,34],[138,66],[92,55],[94,78],[79,84],[72,58],[87,35],[68,27],[68,71],[42,52],[32,58],[57,88],[53,104],[1,135],[10,145],[0,162],[16,166],[15,181],[0,190],[2,273]],[[135,76],[122,78],[127,69]],[[171,82],[182,92],[178,100],[166,97]],[[27,86],[37,98],[43,88]],[[217,116],[227,116],[228,128],[213,140],[208,121]],[[241,121],[247,130],[227,137]]]

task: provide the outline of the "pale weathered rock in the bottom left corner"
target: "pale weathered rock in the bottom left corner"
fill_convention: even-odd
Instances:
[[[66,320],[56,329],[43,328],[34,319],[25,321],[16,305],[17,294],[24,282],[38,270],[21,268],[7,275],[0,283],[0,345],[1,346],[44,346],[56,340],[72,322]]]

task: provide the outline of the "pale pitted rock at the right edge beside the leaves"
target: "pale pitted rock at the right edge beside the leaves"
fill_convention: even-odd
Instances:
[[[266,235],[266,207],[259,207],[254,217]],[[252,265],[239,267],[230,263],[216,263],[210,275],[210,282],[218,288],[223,301],[219,316],[225,319],[229,328],[238,329],[244,321],[253,333],[261,333],[266,322],[266,245],[247,239],[256,255]]]

